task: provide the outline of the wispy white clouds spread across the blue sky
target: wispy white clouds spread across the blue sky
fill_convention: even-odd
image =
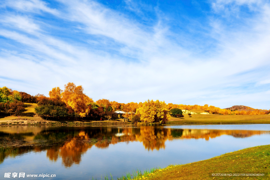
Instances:
[[[172,33],[164,23],[166,19],[149,27],[94,1],[62,2],[66,6],[62,12],[48,8],[48,4],[42,1],[18,1],[9,6],[32,13],[52,13],[62,21],[75,23],[88,43],[73,44],[49,34],[34,16],[5,16],[1,21],[5,26],[8,24],[32,34],[28,36],[5,28],[0,30],[2,37],[25,48],[24,53],[1,51],[1,63],[8,67],[19,65],[1,71],[0,77],[8,74],[14,79],[7,86],[25,89],[26,83],[35,84],[34,88],[31,85],[29,93],[48,94],[55,86],[63,89],[64,84],[74,82],[82,85],[85,93],[94,100],[106,98],[127,103],[159,99],[167,103],[209,104],[223,108],[238,102],[254,102],[258,107],[258,101],[265,101],[269,96],[265,90],[254,93],[241,89],[247,83],[268,83],[258,79],[259,70],[257,74],[249,73],[270,63],[268,4],[256,9],[258,15],[244,19],[248,23],[243,22],[239,29],[228,30],[228,26],[222,24],[223,20],[211,17],[212,31],[208,35],[217,40],[219,51],[206,58],[203,55],[198,57],[196,50],[186,49],[168,38],[168,35],[176,39],[184,35]],[[19,7],[20,3],[22,6]],[[216,4],[228,3],[218,1]],[[93,40],[92,36],[97,36],[98,40]],[[108,46],[107,42],[117,53],[102,49]],[[96,50],[95,46],[101,48]],[[20,86],[14,84],[18,80]],[[7,83],[7,80],[0,82]],[[252,98],[248,99],[249,96]]]

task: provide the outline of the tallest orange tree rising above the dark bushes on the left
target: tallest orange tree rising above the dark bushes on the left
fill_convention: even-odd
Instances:
[[[83,93],[83,87],[76,86],[74,83],[65,85],[65,90],[62,93],[62,101],[72,107],[80,117],[86,116],[87,104],[93,102],[92,99]]]

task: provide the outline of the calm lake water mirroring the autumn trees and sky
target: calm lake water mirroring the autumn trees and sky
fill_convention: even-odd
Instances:
[[[0,179],[5,172],[56,175],[44,179],[117,178],[134,169],[186,164],[266,144],[270,124],[0,127]]]

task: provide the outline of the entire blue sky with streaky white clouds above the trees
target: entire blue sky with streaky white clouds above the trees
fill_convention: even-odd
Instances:
[[[270,109],[270,2],[0,2],[0,86]]]

